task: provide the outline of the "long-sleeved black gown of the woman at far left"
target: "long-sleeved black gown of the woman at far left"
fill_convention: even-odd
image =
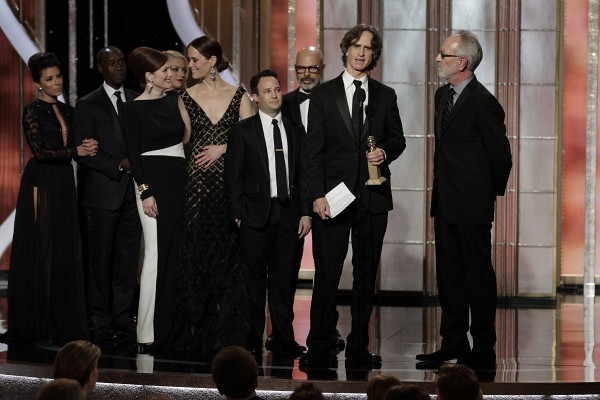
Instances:
[[[57,117],[65,126],[65,138]],[[36,100],[23,112],[33,158],[17,199],[2,341],[87,338],[81,230],[72,160],[73,107]]]

